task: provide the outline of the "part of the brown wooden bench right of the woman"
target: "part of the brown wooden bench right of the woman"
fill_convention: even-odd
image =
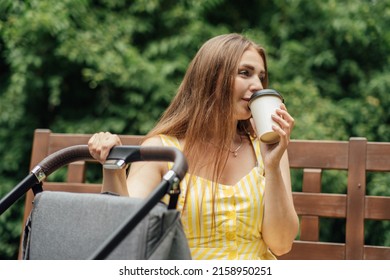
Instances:
[[[303,168],[302,192],[293,193],[300,240],[280,259],[390,259],[390,247],[364,243],[365,220],[390,220],[390,197],[366,195],[367,172],[390,171],[390,143],[294,140],[288,153],[291,168]],[[348,172],[346,194],[321,192],[324,170]],[[320,242],[319,217],[345,218],[345,242]]]

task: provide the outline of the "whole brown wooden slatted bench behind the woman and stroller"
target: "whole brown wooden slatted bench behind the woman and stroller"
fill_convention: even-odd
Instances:
[[[87,134],[60,134],[37,129],[30,167],[57,150],[86,144],[90,137]],[[138,145],[143,138],[120,137],[125,145]],[[302,192],[293,193],[301,223],[299,239],[294,241],[293,249],[279,259],[390,259],[390,247],[369,246],[364,242],[366,219],[390,220],[390,197],[366,195],[367,172],[390,171],[390,143],[367,142],[365,138],[351,138],[349,141],[293,140],[288,153],[291,168],[303,170]],[[85,183],[86,165],[85,162],[70,164],[66,182],[44,182],[43,188],[100,192],[100,184]],[[346,194],[321,192],[324,170],[348,172]],[[31,211],[32,200],[33,194],[29,191],[23,223]],[[320,241],[321,217],[345,219],[345,242]]]

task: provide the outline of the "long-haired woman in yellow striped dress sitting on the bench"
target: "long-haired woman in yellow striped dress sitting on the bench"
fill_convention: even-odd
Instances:
[[[174,146],[187,158],[178,209],[194,259],[275,259],[291,249],[298,217],[286,149],[294,119],[282,104],[273,115],[279,143],[260,143],[248,101],[267,87],[261,47],[239,34],[214,37],[200,48],[142,144]],[[115,145],[119,137],[108,132],[89,141],[100,162]],[[122,170],[105,170],[103,190],[146,197],[169,168],[137,162],[127,178]]]

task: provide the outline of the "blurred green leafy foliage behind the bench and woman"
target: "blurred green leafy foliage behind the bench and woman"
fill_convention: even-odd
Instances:
[[[389,0],[1,0],[0,197],[28,174],[36,128],[146,133],[222,33],[265,47],[293,138],[388,142],[389,26]],[[346,174],[323,179],[345,192]],[[390,195],[389,174],[367,179],[369,194]],[[0,259],[17,258],[22,211],[20,200],[0,217]],[[342,224],[322,219],[321,239],[343,242]],[[367,222],[366,242],[390,246],[389,221]]]

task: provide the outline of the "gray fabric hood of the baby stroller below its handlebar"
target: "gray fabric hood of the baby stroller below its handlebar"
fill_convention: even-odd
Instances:
[[[87,259],[140,200],[105,194],[39,193],[23,237],[25,259]],[[159,203],[108,259],[191,259],[179,212]]]

